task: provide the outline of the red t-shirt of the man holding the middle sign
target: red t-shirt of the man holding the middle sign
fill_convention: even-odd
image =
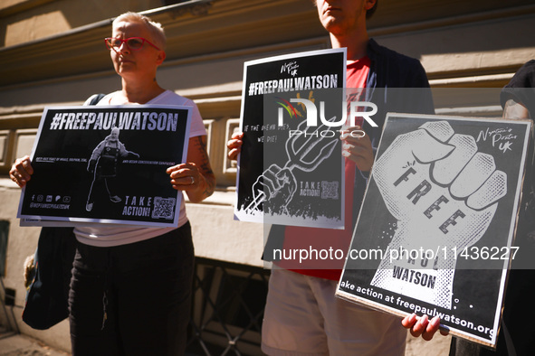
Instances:
[[[347,85],[348,101],[358,99],[366,87],[369,72],[369,58],[348,61]],[[362,118],[361,118],[362,119]],[[339,280],[352,236],[353,187],[355,183],[355,163],[345,159],[345,211],[344,230],[303,228],[288,226],[284,232],[283,249],[286,251],[306,250],[311,258],[300,261],[282,259],[275,262],[278,267],[290,269],[307,276],[317,276]],[[317,252],[316,252],[317,251]],[[298,255],[299,256],[299,255]],[[303,255],[304,256],[304,255]]]

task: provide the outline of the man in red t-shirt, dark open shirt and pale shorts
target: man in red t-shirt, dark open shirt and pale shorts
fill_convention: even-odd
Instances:
[[[384,89],[429,87],[419,61],[379,46],[369,38],[367,19],[375,12],[377,0],[317,0],[316,6],[320,23],[330,33],[332,47],[347,48],[347,86],[353,97],[349,100],[373,99],[376,101],[372,102],[381,104],[374,116],[374,121],[378,118],[379,126],[384,122],[387,109],[383,105],[387,104]],[[433,112],[432,100],[421,101],[431,103],[425,108],[426,113]],[[407,112],[401,107],[396,108],[397,112]],[[345,133],[340,136],[346,175],[345,229],[273,226],[272,232],[278,230],[283,238],[282,248],[348,251],[368,173],[374,162],[380,127],[372,130],[364,123],[357,123],[357,126],[345,129],[348,132],[364,129],[367,134],[354,137]],[[237,158],[243,138],[244,133],[236,133],[227,142],[230,159]],[[270,244],[269,239],[267,244]],[[266,246],[264,259],[270,260],[269,255],[270,248]],[[335,297],[343,263],[343,258],[273,261],[263,320],[262,350],[265,353],[404,354],[406,331],[399,325],[399,318]]]

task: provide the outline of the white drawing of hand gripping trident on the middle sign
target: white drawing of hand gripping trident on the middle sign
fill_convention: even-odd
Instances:
[[[335,118],[332,117],[329,121]],[[292,172],[293,169],[297,168],[303,172],[316,170],[332,154],[339,142],[338,138],[318,135],[326,127],[325,124],[318,127],[307,126],[304,120],[296,130],[290,131],[290,137],[285,145],[288,162],[282,167],[272,164],[263,171],[253,184],[253,201],[245,211],[289,214],[288,204],[297,191],[297,180]]]

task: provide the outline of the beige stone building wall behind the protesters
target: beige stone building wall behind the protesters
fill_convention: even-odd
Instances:
[[[7,178],[8,169],[15,157],[31,152],[44,106],[80,105],[93,93],[119,89],[119,77],[102,41],[110,35],[110,18],[164,4],[158,0],[0,4],[0,220],[10,221],[4,282],[16,291],[17,305],[24,305],[22,265],[33,253],[38,229],[18,226],[19,190]],[[225,142],[239,125],[243,64],[329,48],[329,37],[308,0],[187,4],[149,15],[164,24],[168,39],[158,82],[193,98],[208,130],[217,190],[202,204],[187,204],[196,255],[262,266],[263,227],[233,220],[235,165],[225,158]],[[522,63],[535,58],[533,23],[531,0],[381,0],[369,33],[380,44],[422,61],[437,112],[500,116],[499,89]],[[66,323],[46,332],[35,332],[20,319],[18,324],[23,333],[65,350],[70,347],[64,337]]]

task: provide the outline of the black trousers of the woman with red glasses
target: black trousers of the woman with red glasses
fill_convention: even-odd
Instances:
[[[113,248],[78,243],[69,294],[72,354],[184,354],[193,270],[189,223]]]

